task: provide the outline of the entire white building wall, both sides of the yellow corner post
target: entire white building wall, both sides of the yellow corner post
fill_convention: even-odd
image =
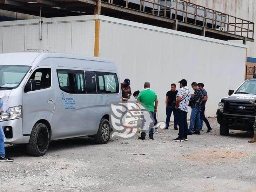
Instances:
[[[106,16],[43,19],[42,40],[38,19],[0,22],[0,51],[35,49],[93,56],[97,19],[101,21],[100,57],[115,61],[120,79],[131,80],[132,91],[151,82],[159,98],[159,120],[165,120],[165,96],[171,83],[178,87],[184,78],[190,88],[192,81],[203,82],[209,94],[206,113],[215,116],[220,98],[244,80],[244,45]]]

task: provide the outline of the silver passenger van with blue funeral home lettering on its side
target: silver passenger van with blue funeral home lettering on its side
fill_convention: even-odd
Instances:
[[[110,138],[110,107],[121,101],[120,81],[112,61],[61,53],[0,54],[0,95],[9,112],[0,124],[5,143],[27,144],[42,156],[49,141],[94,136]]]

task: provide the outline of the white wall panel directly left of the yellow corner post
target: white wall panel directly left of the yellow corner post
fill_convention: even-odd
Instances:
[[[72,54],[94,56],[95,21],[73,22]]]

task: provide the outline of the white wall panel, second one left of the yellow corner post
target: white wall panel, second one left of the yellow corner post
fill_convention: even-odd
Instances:
[[[48,24],[47,49],[49,52],[71,53],[72,23]]]

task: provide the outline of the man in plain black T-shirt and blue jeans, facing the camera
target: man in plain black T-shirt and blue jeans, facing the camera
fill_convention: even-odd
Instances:
[[[166,100],[165,100],[165,105],[166,105],[166,128],[169,128],[170,124],[170,118],[171,118],[171,113],[173,112],[174,116],[174,129],[178,130],[178,121],[177,121],[177,115],[176,112],[173,111],[172,104],[174,101],[176,101],[178,91],[176,90],[176,84],[173,83],[171,84],[171,90],[166,93]]]

